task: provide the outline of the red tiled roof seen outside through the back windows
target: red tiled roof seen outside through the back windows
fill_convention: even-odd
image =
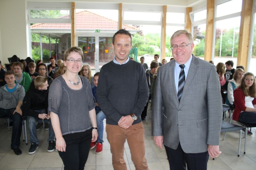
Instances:
[[[67,18],[67,16],[61,17]],[[100,16],[90,11],[81,11],[76,13],[76,30],[117,30],[118,22],[112,19]],[[127,30],[139,31],[139,28],[129,25],[123,25]],[[70,23],[38,23],[30,26],[30,29],[44,30],[71,30]]]

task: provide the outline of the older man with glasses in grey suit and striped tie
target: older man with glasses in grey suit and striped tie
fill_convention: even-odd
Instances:
[[[164,143],[170,169],[186,169],[187,164],[189,170],[204,170],[209,155],[221,153],[218,74],[214,65],[192,55],[193,37],[186,30],[172,35],[171,48],[174,60],[157,73],[152,135],[159,148]]]

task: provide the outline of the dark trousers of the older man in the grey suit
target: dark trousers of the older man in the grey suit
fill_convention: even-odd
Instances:
[[[188,170],[207,170],[208,152],[185,153],[180,143],[176,150],[165,145],[164,147],[171,170],[186,170],[186,164]]]

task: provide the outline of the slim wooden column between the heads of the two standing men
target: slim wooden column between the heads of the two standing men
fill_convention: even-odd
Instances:
[[[163,19],[162,19],[162,45],[161,45],[161,57],[162,59],[165,58],[165,47],[166,47],[166,11],[167,5],[163,6]]]

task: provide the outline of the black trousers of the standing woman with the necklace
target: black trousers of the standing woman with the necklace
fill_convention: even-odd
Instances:
[[[67,144],[66,152],[60,152],[65,170],[83,170],[90,151],[91,139]]]

